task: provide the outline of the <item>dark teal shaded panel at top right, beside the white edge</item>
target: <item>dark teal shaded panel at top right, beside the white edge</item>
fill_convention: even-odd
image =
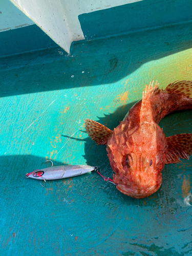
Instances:
[[[78,16],[84,37],[98,38],[192,20],[190,0],[143,0]]]

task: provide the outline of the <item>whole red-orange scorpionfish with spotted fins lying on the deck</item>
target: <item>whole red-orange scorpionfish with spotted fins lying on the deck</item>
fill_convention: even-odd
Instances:
[[[165,164],[189,159],[192,134],[166,137],[158,125],[166,115],[192,109],[192,81],[170,83],[165,90],[150,83],[123,121],[111,131],[104,125],[86,120],[86,130],[106,151],[115,174],[113,182],[123,194],[145,198],[162,183]]]

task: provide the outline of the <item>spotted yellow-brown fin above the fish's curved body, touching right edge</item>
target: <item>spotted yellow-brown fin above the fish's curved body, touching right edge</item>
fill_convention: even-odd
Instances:
[[[169,83],[163,92],[192,97],[192,81],[182,80]]]

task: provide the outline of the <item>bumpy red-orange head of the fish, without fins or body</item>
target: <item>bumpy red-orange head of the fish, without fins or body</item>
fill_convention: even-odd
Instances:
[[[162,183],[166,148],[165,134],[154,121],[132,129],[128,121],[118,125],[107,145],[117,188],[133,198],[155,193]]]

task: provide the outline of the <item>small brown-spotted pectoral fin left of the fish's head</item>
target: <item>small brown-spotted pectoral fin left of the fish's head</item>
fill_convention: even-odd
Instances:
[[[108,140],[111,134],[113,133],[112,130],[91,119],[86,119],[85,124],[86,124],[86,131],[88,135],[98,145],[106,145],[106,143],[108,143]]]

